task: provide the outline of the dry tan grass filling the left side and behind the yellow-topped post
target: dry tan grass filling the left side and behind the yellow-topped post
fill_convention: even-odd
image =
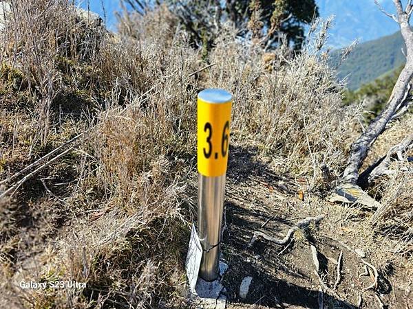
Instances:
[[[237,144],[257,145],[279,173],[307,176],[308,189],[324,187],[322,163],[333,176],[346,163],[361,113],[341,106],[343,85],[319,52],[325,34],[301,54],[282,46],[268,56],[228,25],[207,58],[216,65],[191,75],[204,57],[165,7],[127,14],[109,34],[69,1],[15,3],[1,34],[1,178],[89,131],[0,202],[0,306],[186,306],[195,97],[205,87],[234,94]],[[22,291],[22,278],[87,288]]]

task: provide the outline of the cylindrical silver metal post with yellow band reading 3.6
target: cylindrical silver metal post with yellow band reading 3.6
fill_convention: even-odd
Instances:
[[[231,93],[222,89],[198,94],[198,233],[203,250],[199,275],[209,282],[220,274],[231,106]]]

